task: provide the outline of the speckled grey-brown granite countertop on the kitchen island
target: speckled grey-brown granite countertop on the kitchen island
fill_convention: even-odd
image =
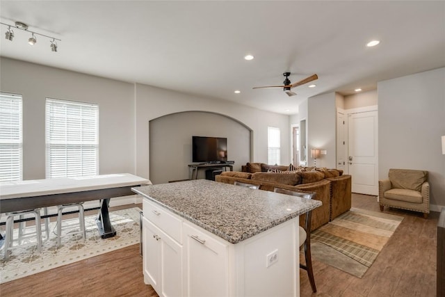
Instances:
[[[132,188],[229,243],[238,243],[321,206],[270,191],[252,190],[207,179]]]

